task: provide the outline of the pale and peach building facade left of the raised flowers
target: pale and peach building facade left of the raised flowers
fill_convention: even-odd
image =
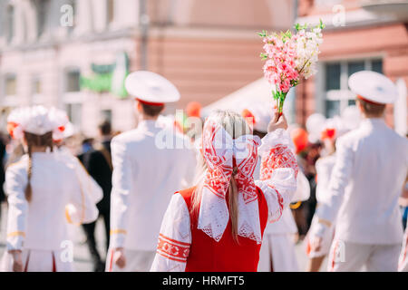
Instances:
[[[129,59],[128,71],[150,70],[176,84],[181,100],[168,112],[190,101],[214,102],[262,76],[256,33],[290,27],[295,5],[287,0],[2,0],[2,128],[15,106],[41,103],[65,109],[88,136],[96,135],[103,119],[116,131],[131,129],[137,118],[130,97],[101,89],[98,80],[83,85],[83,79],[112,73],[120,55]]]

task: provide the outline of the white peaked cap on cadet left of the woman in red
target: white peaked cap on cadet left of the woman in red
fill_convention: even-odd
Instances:
[[[180,92],[160,74],[147,71],[131,73],[125,80],[126,90],[142,102],[165,103],[180,100]]]

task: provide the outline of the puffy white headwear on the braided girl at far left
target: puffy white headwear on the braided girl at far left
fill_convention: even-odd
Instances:
[[[15,123],[14,137],[23,137],[23,132],[44,135],[54,131],[58,124],[50,118],[49,111],[43,106],[23,107],[12,111],[7,122]]]

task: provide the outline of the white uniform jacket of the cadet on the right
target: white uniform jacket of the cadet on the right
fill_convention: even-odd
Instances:
[[[362,244],[397,244],[403,238],[398,198],[408,170],[408,140],[381,119],[365,119],[339,138],[329,198],[317,217],[336,219],[335,236]],[[316,227],[321,236],[326,227]]]

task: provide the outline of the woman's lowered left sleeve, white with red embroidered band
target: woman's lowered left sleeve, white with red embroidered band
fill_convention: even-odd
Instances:
[[[161,223],[151,272],[184,272],[190,244],[189,209],[180,193],[176,193]]]

